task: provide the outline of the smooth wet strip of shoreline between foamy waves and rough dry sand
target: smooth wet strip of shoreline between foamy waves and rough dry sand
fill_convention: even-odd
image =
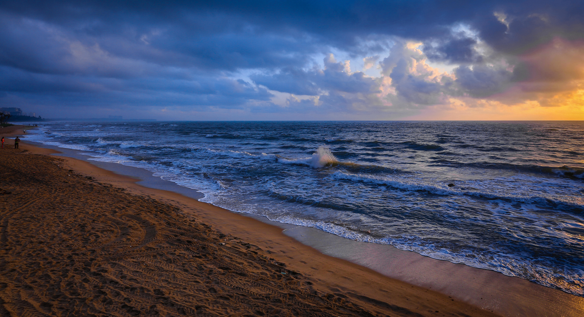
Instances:
[[[35,147],[35,149],[33,149],[32,145],[26,145],[26,147],[31,147],[29,151],[39,152],[40,154],[55,154],[53,150],[48,149],[51,146],[47,145],[43,145],[41,148]],[[58,148],[57,151],[75,152],[62,148]],[[117,163],[88,161],[81,156],[79,158],[70,158],[69,156],[75,156],[72,153],[57,154],[56,156],[67,159],[69,166],[83,175],[96,177],[100,181],[113,183],[115,186],[127,188],[134,193],[151,195],[151,197],[175,204],[183,209],[190,209],[199,217],[205,218],[206,222],[213,224],[214,228],[220,228],[220,231],[223,232],[229,232],[230,230],[237,232],[238,236],[245,236],[248,241],[255,240],[258,243],[266,243],[266,241],[258,239],[258,231],[267,230],[265,226],[269,226],[270,232],[274,235],[279,235],[282,248],[285,246],[290,249],[292,246],[292,249],[294,249],[298,247],[294,247],[294,245],[300,243],[304,243],[302,246],[305,246],[305,248],[306,246],[310,249],[314,248],[310,257],[320,256],[321,260],[317,261],[318,264],[331,262],[329,258],[322,259],[322,254],[324,254],[325,257],[327,255],[334,256],[335,259],[332,261],[336,263],[349,261],[353,269],[356,266],[359,270],[369,270],[368,274],[374,271],[373,273],[376,277],[373,280],[370,279],[367,283],[373,283],[378,278],[405,281],[416,285],[411,288],[420,288],[425,292],[439,291],[441,293],[439,294],[444,294],[442,297],[446,299],[449,299],[446,296],[450,295],[456,298],[457,301],[461,300],[503,316],[577,316],[583,312],[584,298],[531,283],[521,278],[507,277],[495,271],[476,269],[464,264],[432,259],[415,252],[399,250],[390,245],[357,242],[328,234],[315,228],[281,224],[280,222],[269,221],[265,217],[234,213],[200,202],[196,200],[196,197],[193,197],[197,196],[196,194],[200,195],[196,190],[187,189],[152,176],[152,173],[145,169],[131,168]],[[112,168],[112,165],[117,165],[117,167]],[[120,166],[122,167],[120,168]],[[114,172],[109,169],[113,169]],[[136,172],[136,170],[141,172]],[[130,174],[130,177],[128,177],[128,174]],[[145,180],[137,181],[135,178]],[[150,188],[152,186],[164,189]],[[182,189],[182,193],[175,192],[181,191],[178,187]],[[262,225],[257,222],[261,222]],[[251,228],[254,229],[251,230]],[[294,240],[289,240],[289,238],[286,240],[284,236],[291,237]],[[283,238],[284,240],[282,240]],[[304,252],[307,252],[307,250],[304,250]],[[290,253],[290,251],[287,253]],[[274,257],[276,257],[275,254]],[[297,259],[298,256],[300,255],[296,255],[294,258]],[[301,263],[303,260],[290,261],[286,257],[282,257],[279,260],[295,267],[295,269],[298,268],[301,271],[305,271],[307,276],[319,276],[323,273],[318,264],[307,269],[307,264]],[[333,267],[336,267],[336,265]],[[326,274],[330,274],[330,276],[324,279],[325,284],[330,284],[331,281],[340,283],[334,272]],[[353,281],[349,284],[353,285],[355,282]],[[371,294],[370,291],[366,291],[366,288],[361,291]],[[375,294],[376,292],[373,293]],[[491,298],[487,299],[487,296]],[[481,297],[485,299],[479,301],[478,299],[482,299]]]

